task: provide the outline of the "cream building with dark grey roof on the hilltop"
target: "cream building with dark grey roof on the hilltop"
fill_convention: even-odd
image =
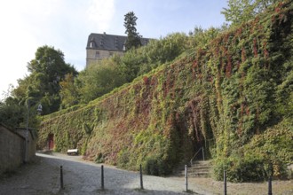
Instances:
[[[86,45],[86,66],[114,54],[123,56],[127,36],[91,33]],[[150,39],[141,38],[141,44],[147,45]]]

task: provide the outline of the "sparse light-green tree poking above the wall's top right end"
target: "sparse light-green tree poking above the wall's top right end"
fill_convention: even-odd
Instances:
[[[270,4],[282,0],[228,0],[228,8],[221,13],[225,15],[226,21],[231,25],[238,25],[242,22],[253,19],[257,13],[264,12]]]

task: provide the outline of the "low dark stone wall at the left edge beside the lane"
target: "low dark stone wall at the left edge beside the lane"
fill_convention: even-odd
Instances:
[[[28,131],[28,161],[36,156],[36,139]],[[0,123],[0,175],[18,168],[25,159],[25,129],[13,131]]]

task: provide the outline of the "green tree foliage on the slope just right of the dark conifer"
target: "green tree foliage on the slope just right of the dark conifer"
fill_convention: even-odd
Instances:
[[[147,74],[189,49],[188,39],[183,33],[174,33],[160,40],[151,40],[147,46],[133,48],[121,58],[120,71],[127,82],[132,82],[139,75]]]

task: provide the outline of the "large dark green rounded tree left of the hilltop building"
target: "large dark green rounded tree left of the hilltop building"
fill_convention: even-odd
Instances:
[[[47,45],[39,47],[36,58],[28,63],[29,75],[19,80],[19,87],[12,91],[20,104],[26,99],[33,98],[41,102],[44,114],[59,110],[59,82],[66,74],[77,74],[75,68],[64,61],[62,51],[55,50]]]

